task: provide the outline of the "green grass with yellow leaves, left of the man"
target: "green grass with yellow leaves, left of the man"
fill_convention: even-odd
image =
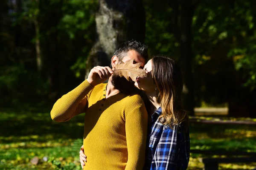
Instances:
[[[49,113],[0,112],[0,169],[81,169],[83,122],[83,114],[57,123]],[[40,160],[32,165],[35,156]]]

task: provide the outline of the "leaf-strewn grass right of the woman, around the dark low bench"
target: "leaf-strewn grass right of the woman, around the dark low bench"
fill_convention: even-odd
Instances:
[[[256,152],[256,126],[190,124],[191,149]],[[225,157],[216,155],[190,154],[189,170],[202,169],[201,158]],[[256,163],[219,164],[220,170],[248,170]]]

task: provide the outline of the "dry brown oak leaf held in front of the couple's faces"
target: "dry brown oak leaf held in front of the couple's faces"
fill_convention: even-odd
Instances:
[[[146,71],[140,68],[141,62],[133,64],[133,59],[128,62],[122,62],[116,65],[114,71],[120,76],[125,77],[129,81],[131,77],[132,81],[136,81],[137,77],[147,77]]]

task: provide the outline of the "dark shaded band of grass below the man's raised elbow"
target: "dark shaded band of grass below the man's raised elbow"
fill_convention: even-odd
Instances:
[[[68,122],[58,123],[51,119],[50,113],[5,111],[0,112],[0,125],[3,142],[78,139],[83,137],[84,113]]]

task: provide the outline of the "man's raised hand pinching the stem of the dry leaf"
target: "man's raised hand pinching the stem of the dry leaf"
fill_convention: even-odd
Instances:
[[[96,86],[107,80],[111,74],[113,74],[113,71],[110,67],[97,66],[91,69],[87,81],[90,85]]]

